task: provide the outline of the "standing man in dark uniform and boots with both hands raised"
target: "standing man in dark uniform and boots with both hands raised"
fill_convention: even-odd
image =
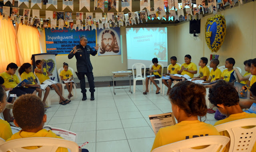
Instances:
[[[89,45],[87,45],[87,42],[88,40],[86,39],[86,37],[81,37],[80,44],[76,45],[68,55],[69,59],[76,56],[76,68],[80,80],[80,86],[82,90],[81,92],[83,93],[83,101],[87,99],[84,75],[86,75],[89,82],[91,100],[94,100],[94,77],[92,73],[92,63],[90,61],[90,54],[95,56],[99,49],[99,45],[97,44],[96,47],[94,47],[95,51],[93,51],[92,48]]]

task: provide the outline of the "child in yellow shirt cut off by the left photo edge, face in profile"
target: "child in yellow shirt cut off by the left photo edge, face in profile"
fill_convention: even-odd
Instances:
[[[6,107],[6,93],[4,91],[4,88],[0,87],[0,113],[2,113]],[[0,117],[0,137],[4,140],[7,140],[12,136],[12,129],[10,124],[7,121],[4,121]]]

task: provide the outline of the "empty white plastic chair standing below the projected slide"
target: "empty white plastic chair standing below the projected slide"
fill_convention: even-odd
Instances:
[[[144,77],[142,76],[142,68],[144,67]],[[136,68],[136,77],[134,76],[134,68]],[[142,80],[143,84],[143,90],[145,90],[145,82],[146,82],[146,76],[145,76],[145,69],[146,66],[143,63],[135,63],[132,65],[132,74],[133,74],[133,92],[136,91],[136,81]]]

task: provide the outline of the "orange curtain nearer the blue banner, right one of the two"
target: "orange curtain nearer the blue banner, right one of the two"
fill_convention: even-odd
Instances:
[[[20,63],[31,63],[33,54],[41,53],[38,29],[19,23],[17,46]]]

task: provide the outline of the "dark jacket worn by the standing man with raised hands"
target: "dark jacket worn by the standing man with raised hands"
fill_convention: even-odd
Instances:
[[[92,72],[92,63],[90,61],[90,54],[95,56],[97,51],[93,51],[89,45],[85,48],[82,45],[76,45],[77,52],[74,54],[73,50],[68,55],[68,58],[76,56],[76,68],[78,72]]]

